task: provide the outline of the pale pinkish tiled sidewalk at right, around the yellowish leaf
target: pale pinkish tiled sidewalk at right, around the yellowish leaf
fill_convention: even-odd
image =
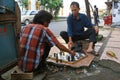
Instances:
[[[113,60],[120,63],[120,36],[119,35],[120,35],[120,29],[115,28],[110,35],[110,38],[107,42],[107,45],[100,59],[109,59],[109,60]],[[118,59],[106,55],[107,51],[114,52]]]

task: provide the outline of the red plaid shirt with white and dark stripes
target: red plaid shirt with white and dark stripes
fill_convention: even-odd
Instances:
[[[33,71],[38,67],[46,44],[51,47],[58,44],[53,33],[39,24],[26,26],[20,35],[20,59],[18,66],[22,71]]]

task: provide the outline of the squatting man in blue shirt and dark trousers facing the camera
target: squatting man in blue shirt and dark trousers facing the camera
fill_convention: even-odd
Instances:
[[[94,51],[94,44],[97,42],[96,34],[99,29],[94,26],[85,14],[79,13],[79,3],[72,2],[70,5],[72,14],[67,18],[67,32],[62,31],[61,37],[68,43],[68,47],[73,47],[74,42],[89,39],[88,53]],[[87,28],[85,31],[84,28]]]

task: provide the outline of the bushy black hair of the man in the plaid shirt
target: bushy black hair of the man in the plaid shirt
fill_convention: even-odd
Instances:
[[[45,11],[45,10],[40,10],[33,18],[33,23],[34,24],[42,24],[44,22],[50,22],[53,19],[53,16]]]

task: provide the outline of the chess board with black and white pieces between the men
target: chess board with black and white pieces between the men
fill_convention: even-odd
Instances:
[[[74,64],[87,56],[88,55],[84,51],[76,52],[75,56],[72,56],[67,52],[59,52],[49,55],[48,61],[52,61],[58,64]]]

